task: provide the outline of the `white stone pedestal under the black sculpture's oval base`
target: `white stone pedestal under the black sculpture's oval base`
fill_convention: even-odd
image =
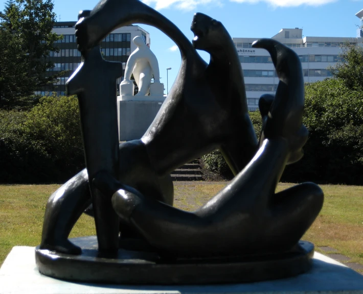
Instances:
[[[39,274],[33,247],[14,247],[0,268],[1,294],[176,294],[176,293],[363,293],[363,276],[315,253],[310,272],[288,279],[252,284],[208,286],[130,286],[71,283]]]

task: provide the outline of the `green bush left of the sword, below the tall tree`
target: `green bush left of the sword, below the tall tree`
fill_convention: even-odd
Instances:
[[[29,112],[0,112],[0,178],[63,182],[84,168],[76,97],[45,96]]]

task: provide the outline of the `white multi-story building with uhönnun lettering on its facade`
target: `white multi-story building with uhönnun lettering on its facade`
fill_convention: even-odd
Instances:
[[[357,13],[363,17],[363,10]],[[342,45],[361,44],[360,37],[303,37],[303,30],[282,29],[273,39],[292,48],[301,60],[305,82],[322,81],[331,77],[327,69],[339,62]],[[362,34],[363,35],[363,34]],[[264,93],[275,94],[279,79],[266,50],[252,48],[258,38],[233,38],[243,68],[248,109],[258,110],[258,100]]]

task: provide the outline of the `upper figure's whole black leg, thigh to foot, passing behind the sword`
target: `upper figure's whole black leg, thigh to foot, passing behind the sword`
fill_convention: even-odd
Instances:
[[[119,149],[121,170],[119,180],[136,186],[146,197],[154,197],[156,200],[173,205],[173,182],[169,175],[163,177],[155,175],[147,164],[149,161],[145,145],[137,140],[120,144]],[[49,198],[40,247],[67,254],[80,254],[80,248],[74,246],[68,240],[68,236],[91,201],[87,170],[83,169]],[[90,214],[94,216],[93,209]]]

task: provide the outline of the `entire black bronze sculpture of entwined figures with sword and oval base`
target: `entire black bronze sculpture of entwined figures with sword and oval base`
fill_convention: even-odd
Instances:
[[[151,24],[171,37],[180,48],[182,65],[142,139],[117,150],[114,89],[120,66],[102,59],[98,43],[132,22]],[[76,35],[83,62],[67,87],[79,98],[87,170],[58,189],[47,204],[36,254],[42,273],[95,282],[216,283],[281,278],[309,268],[313,247],[299,246],[299,239],[319,214],[323,193],[312,183],[275,193],[285,165],[301,159],[308,136],[302,124],[299,58],[274,40],[253,44],[269,52],[280,79],[276,96],[260,99],[258,145],[230,35],[219,21],[200,13],[191,30],[193,45],[173,23],[138,0],[101,1],[93,11],[80,13]],[[195,48],[210,53],[208,65]],[[170,172],[216,148],[236,175],[232,183],[193,213],[173,208]],[[93,249],[79,255],[80,247],[67,237],[91,199],[98,251],[94,239],[76,239],[82,249]],[[144,243],[127,249],[149,253],[118,251],[115,212],[121,239],[130,233]],[[59,255],[58,263],[51,251]],[[90,265],[89,252],[114,259],[96,259]],[[128,262],[119,260],[121,266],[117,256]],[[196,276],[201,269],[203,277]],[[140,274],[146,270],[153,274]]]

